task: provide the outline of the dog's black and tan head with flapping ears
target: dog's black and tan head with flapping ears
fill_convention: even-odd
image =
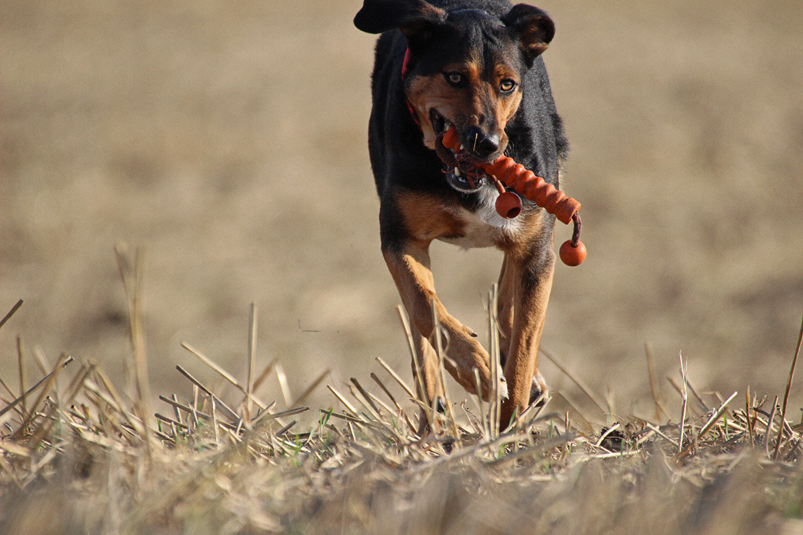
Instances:
[[[454,125],[464,148],[482,161],[505,150],[524,73],[555,33],[547,14],[526,4],[496,17],[424,0],[365,0],[354,24],[368,33],[398,29],[407,38],[404,88],[424,144],[434,148],[437,134]]]

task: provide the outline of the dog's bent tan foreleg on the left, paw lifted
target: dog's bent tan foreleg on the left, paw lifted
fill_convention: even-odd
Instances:
[[[405,242],[399,251],[386,248],[383,253],[407,314],[418,333],[425,339],[421,345],[429,344],[428,340],[434,330],[432,321],[434,299],[438,319],[447,335],[443,340],[444,347],[447,348],[447,358],[444,363],[446,370],[463,388],[476,393],[474,385],[476,368],[480,374],[482,396],[487,399],[491,386],[488,353],[472,336],[473,331],[449,315],[438,299],[430,270],[429,242],[410,240]],[[437,368],[434,372],[431,371],[431,366],[437,366],[433,360],[425,361],[425,377],[434,377],[437,373]],[[429,388],[428,386],[428,390]],[[434,390],[427,392],[428,395],[433,393]]]

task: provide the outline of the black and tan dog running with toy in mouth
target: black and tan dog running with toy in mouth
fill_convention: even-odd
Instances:
[[[541,57],[554,24],[536,7],[504,0],[364,0],[354,24],[381,34],[369,154],[382,254],[411,319],[420,365],[413,362],[413,374],[423,385],[423,401],[438,402],[442,395],[434,302],[444,365],[455,380],[487,400],[491,366],[503,371],[497,374],[499,423],[507,427],[547,392],[537,355],[555,267],[555,217],[524,200],[521,215],[502,218],[494,209],[497,189],[487,179],[446,172],[436,144],[439,134],[455,128],[475,162],[507,155],[560,189],[568,142]],[[476,333],[438,299],[430,271],[433,240],[504,253],[497,310],[501,362],[490,362]]]

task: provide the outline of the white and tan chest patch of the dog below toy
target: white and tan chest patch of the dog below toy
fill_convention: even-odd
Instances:
[[[442,237],[442,241],[464,249],[491,247],[512,238],[521,230],[523,218],[505,219],[496,212],[495,202],[499,193],[495,188],[485,186],[478,194],[481,203],[476,210],[459,208],[455,214],[463,226],[462,235]]]

